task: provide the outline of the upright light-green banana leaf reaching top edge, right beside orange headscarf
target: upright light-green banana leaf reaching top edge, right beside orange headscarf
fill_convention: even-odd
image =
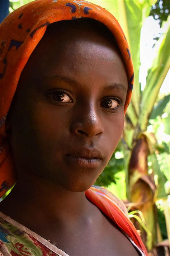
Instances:
[[[141,84],[138,82],[139,79],[139,68],[140,68],[140,35],[143,22],[150,13],[151,5],[155,1],[150,0],[124,0],[119,1],[119,5],[124,3],[126,23],[127,23],[127,41],[130,47],[133,68],[134,68],[134,87],[132,93],[132,102],[134,112],[139,115],[140,113],[140,98],[141,98]],[[122,4],[123,6],[123,4]],[[120,6],[121,7],[121,6]],[[123,8],[120,8],[122,10]],[[122,14],[123,16],[123,14]],[[122,25],[122,23],[121,23]],[[125,33],[125,35],[126,35]],[[127,36],[126,35],[126,36]],[[129,115],[130,108],[128,110]],[[133,114],[134,116],[134,114]],[[134,117],[129,115],[131,121],[134,122]]]

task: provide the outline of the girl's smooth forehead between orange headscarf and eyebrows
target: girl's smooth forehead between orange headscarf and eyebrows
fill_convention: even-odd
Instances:
[[[30,56],[20,78],[25,86],[28,81],[32,86],[41,86],[37,81],[55,85],[51,78],[64,76],[81,85],[90,84],[90,88],[110,83],[127,88],[126,69],[114,38],[104,37],[85,24],[69,23],[66,29],[65,23],[57,23],[47,30]]]

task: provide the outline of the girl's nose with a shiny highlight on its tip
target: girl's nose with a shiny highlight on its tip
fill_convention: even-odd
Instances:
[[[71,132],[78,136],[100,136],[103,133],[101,116],[95,106],[84,105],[74,110],[71,120]]]

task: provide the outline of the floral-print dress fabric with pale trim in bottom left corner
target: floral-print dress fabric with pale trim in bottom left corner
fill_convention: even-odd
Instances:
[[[23,225],[0,212],[0,256],[68,256]]]

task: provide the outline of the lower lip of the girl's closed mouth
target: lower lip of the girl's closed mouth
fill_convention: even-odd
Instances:
[[[65,159],[69,164],[76,164],[83,167],[97,167],[101,163],[101,159],[98,158],[85,158],[65,155]]]

